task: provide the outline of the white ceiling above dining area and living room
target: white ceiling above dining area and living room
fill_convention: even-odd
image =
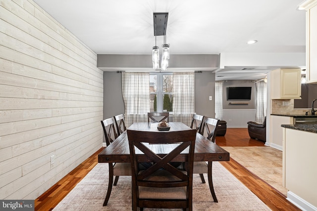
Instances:
[[[302,0],[34,1],[97,54],[151,54],[153,12],[168,12],[171,54],[305,52],[305,11],[297,10]],[[231,65],[216,76],[254,80],[272,68]]]

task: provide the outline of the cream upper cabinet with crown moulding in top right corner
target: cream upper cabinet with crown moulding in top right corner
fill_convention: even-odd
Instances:
[[[317,83],[317,0],[306,0],[299,6],[306,10],[306,78]]]

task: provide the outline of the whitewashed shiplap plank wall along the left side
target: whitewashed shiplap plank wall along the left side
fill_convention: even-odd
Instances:
[[[100,149],[102,118],[97,54],[34,1],[0,0],[0,199],[36,199]]]

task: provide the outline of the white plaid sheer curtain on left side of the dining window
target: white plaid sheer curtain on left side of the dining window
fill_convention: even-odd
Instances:
[[[148,122],[149,84],[149,73],[122,72],[122,95],[127,127],[135,122]]]

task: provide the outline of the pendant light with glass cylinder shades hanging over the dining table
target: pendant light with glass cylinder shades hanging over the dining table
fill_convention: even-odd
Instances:
[[[153,13],[155,46],[152,49],[153,69],[159,69],[159,47],[157,46],[157,36],[164,36],[162,44],[161,70],[166,70],[169,59],[169,44],[166,44],[166,27],[168,13]]]

